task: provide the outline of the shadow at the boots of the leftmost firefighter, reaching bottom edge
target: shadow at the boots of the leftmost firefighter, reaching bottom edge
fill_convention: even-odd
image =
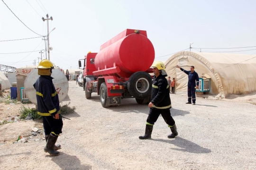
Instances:
[[[91,170],[91,165],[81,164],[81,161],[76,156],[71,156],[66,153],[60,153],[59,156],[50,156],[62,170]]]

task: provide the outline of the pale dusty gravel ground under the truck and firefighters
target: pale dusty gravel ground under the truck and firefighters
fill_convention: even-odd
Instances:
[[[82,87],[74,81],[69,85],[63,103],[71,102],[76,110],[66,115],[71,120],[64,119],[63,133],[57,141],[62,149],[56,157],[44,153],[42,132],[31,135],[32,127],[43,130],[41,121],[18,120],[22,105],[35,105],[0,103],[0,121],[17,118],[17,122],[0,126],[0,169],[256,169],[256,93],[221,100],[198,97],[196,105],[184,104],[186,96],[170,94],[179,136],[167,138],[171,131],[160,116],[152,139],[139,140],[145,132],[146,105],[124,99],[120,106],[102,108],[97,94],[87,100]],[[28,142],[13,144],[19,135]]]

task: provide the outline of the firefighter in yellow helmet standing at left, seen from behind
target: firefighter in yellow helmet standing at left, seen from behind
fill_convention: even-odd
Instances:
[[[60,145],[55,145],[58,136],[62,133],[63,121],[60,113],[60,103],[58,93],[53,84],[51,77],[53,63],[47,59],[39,62],[38,75],[40,77],[34,84],[37,94],[37,114],[43,117],[43,124],[46,137],[46,147],[44,151],[52,156],[60,153],[56,150],[60,149]],[[60,118],[60,119],[59,119]]]

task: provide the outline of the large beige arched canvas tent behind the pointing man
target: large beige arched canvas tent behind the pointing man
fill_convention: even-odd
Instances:
[[[210,93],[241,94],[256,91],[256,55],[181,51],[165,61],[166,72],[176,79],[176,93],[187,93],[188,76],[176,65],[199,76],[209,75]]]

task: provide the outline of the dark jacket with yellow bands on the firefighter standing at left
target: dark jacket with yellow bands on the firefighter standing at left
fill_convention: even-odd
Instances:
[[[37,114],[53,116],[60,113],[60,102],[53,84],[53,77],[40,76],[33,86],[37,91]]]

